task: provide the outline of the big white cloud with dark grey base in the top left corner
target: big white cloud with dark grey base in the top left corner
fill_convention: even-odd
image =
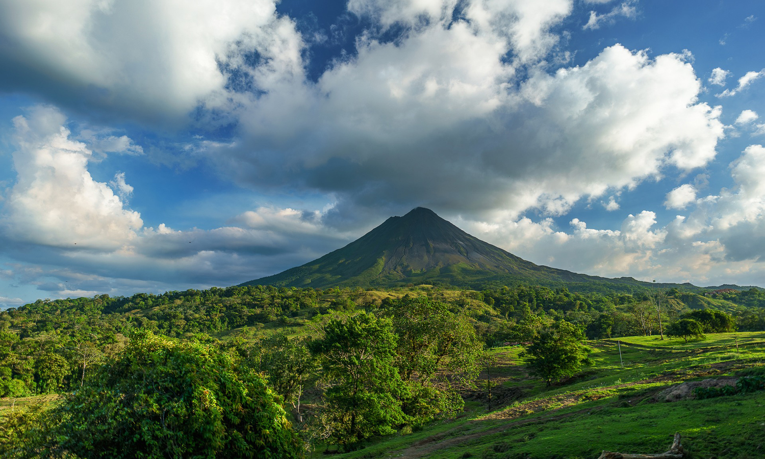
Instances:
[[[269,65],[301,47],[273,0],[0,2],[0,41],[5,89],[174,122],[218,103],[243,47]]]

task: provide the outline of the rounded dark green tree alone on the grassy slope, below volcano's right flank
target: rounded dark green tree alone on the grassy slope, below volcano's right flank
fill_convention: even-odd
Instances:
[[[545,380],[547,386],[552,380],[573,376],[588,363],[590,348],[584,346],[581,330],[566,321],[560,321],[533,338],[529,347],[520,356],[535,376]]]

